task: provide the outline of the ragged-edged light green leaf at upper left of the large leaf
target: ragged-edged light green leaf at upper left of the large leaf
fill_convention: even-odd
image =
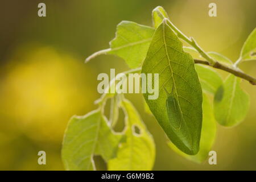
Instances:
[[[109,54],[122,57],[130,68],[137,68],[146,57],[154,28],[134,22],[122,21],[115,38],[110,42]]]

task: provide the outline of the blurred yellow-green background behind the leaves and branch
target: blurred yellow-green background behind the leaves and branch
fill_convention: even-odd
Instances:
[[[38,16],[39,2],[46,3],[46,17]],[[217,3],[217,17],[208,16],[210,2]],[[100,56],[88,64],[85,57],[109,47],[121,20],[151,26],[151,11],[158,5],[205,51],[233,61],[256,27],[254,0],[1,1],[0,169],[64,169],[60,150],[69,118],[96,109],[99,73],[129,69],[115,56]],[[256,77],[255,62],[241,68]],[[144,113],[141,95],[127,96],[154,136],[154,169],[256,169],[256,86],[245,81],[242,85],[250,94],[249,113],[232,129],[218,125],[213,166],[208,161],[195,164],[168,148],[154,117]],[[46,151],[46,165],[38,165],[40,150]]]

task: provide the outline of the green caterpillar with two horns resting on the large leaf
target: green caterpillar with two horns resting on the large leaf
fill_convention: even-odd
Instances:
[[[168,93],[166,88],[164,88],[164,90],[166,90],[166,93],[167,93],[167,100],[166,100],[167,115],[168,115],[168,120],[171,123],[171,127],[174,128],[175,130],[180,130],[181,123],[183,121],[183,115],[180,110],[180,106],[176,98],[174,97],[173,89],[174,88],[172,88],[171,93]]]

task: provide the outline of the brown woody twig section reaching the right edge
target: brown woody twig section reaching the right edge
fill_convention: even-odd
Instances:
[[[196,64],[205,64],[205,65],[209,65],[210,67],[213,67],[213,68],[222,69],[223,71],[232,73],[234,76],[237,76],[237,77],[243,78],[244,80],[249,81],[250,84],[252,84],[252,85],[256,85],[256,78],[254,78],[250,75],[247,75],[237,69],[227,67],[226,65],[223,65],[218,62],[216,62],[214,65],[210,65],[208,61],[199,60],[199,59],[195,59],[194,61]]]

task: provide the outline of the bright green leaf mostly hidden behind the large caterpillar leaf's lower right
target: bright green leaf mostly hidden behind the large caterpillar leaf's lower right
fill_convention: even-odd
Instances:
[[[173,143],[168,142],[168,146],[177,154],[192,160],[196,163],[202,163],[208,158],[208,153],[211,150],[216,136],[216,122],[213,115],[212,104],[210,103],[207,94],[203,94],[203,125],[200,140],[200,150],[196,155],[187,155],[180,151]]]

